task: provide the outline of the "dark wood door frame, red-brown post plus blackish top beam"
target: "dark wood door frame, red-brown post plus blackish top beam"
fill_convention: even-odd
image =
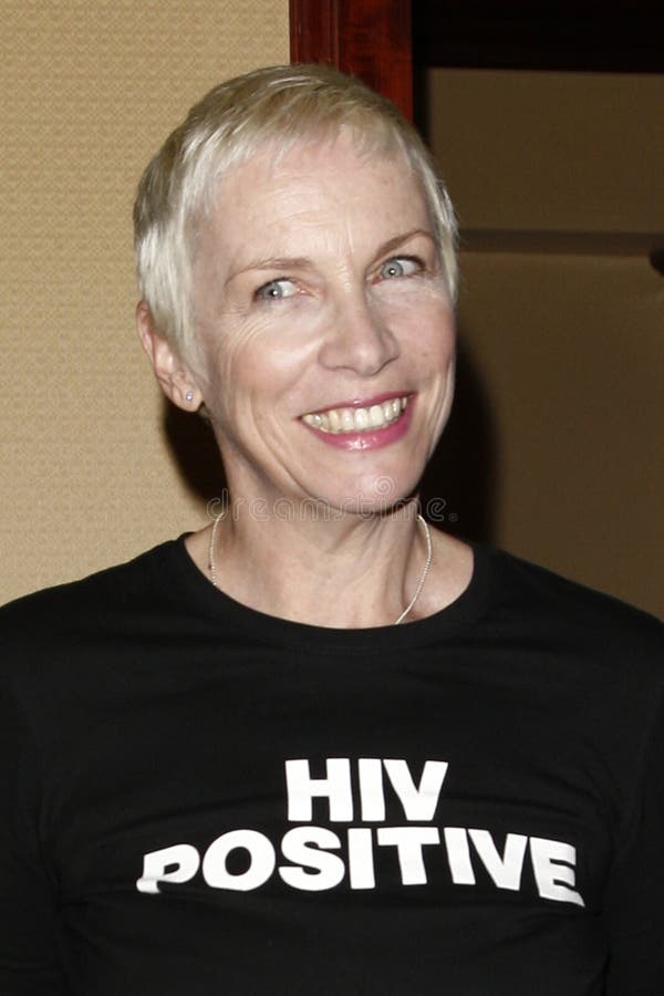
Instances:
[[[660,20],[661,0],[290,0],[291,62],[354,73],[412,117],[414,66],[664,72]]]

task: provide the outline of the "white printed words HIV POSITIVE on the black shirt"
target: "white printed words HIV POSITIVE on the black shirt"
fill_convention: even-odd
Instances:
[[[378,888],[381,867],[386,863],[397,868],[401,885],[423,886],[430,881],[432,868],[438,872],[433,852],[442,849],[443,868],[455,886],[476,885],[478,875],[488,875],[495,888],[519,891],[528,860],[542,899],[584,905],[574,889],[577,851],[571,844],[523,833],[432,826],[447,776],[446,761],[425,761],[417,781],[403,758],[360,758],[354,765],[350,758],[328,758],[321,778],[312,777],[307,759],[287,760],[284,770],[287,822],[300,826],[286,829],[278,845],[252,829],[229,829],[203,852],[190,843],[174,843],[143,855],[137,890],[159,893],[162,883],[181,885],[199,872],[208,888],[236,892],[260,889],[273,875],[305,892],[344,883],[351,890],[367,890]],[[325,807],[328,823],[385,823],[386,788],[398,800],[404,822],[335,828],[339,832],[330,826],[312,826],[314,805]]]

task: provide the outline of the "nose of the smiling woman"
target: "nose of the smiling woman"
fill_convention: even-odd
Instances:
[[[398,342],[377,305],[361,293],[336,303],[319,353],[323,366],[371,377],[398,354]]]

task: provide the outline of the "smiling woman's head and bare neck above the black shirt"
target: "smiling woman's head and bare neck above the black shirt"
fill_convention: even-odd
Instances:
[[[333,70],[259,71],[191,111],[135,218],[138,325],[162,386],[205,407],[234,508],[293,511],[279,530],[273,515],[228,517],[221,587],[299,622],[396,619],[425,559],[413,496],[454,387],[454,216],[419,138]],[[449,570],[413,618],[470,578],[469,549],[435,542]],[[207,533],[186,546],[209,572]]]

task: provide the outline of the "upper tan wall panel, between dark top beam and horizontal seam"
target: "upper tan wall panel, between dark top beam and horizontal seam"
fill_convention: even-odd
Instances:
[[[433,70],[428,91],[466,228],[664,232],[664,76]]]

